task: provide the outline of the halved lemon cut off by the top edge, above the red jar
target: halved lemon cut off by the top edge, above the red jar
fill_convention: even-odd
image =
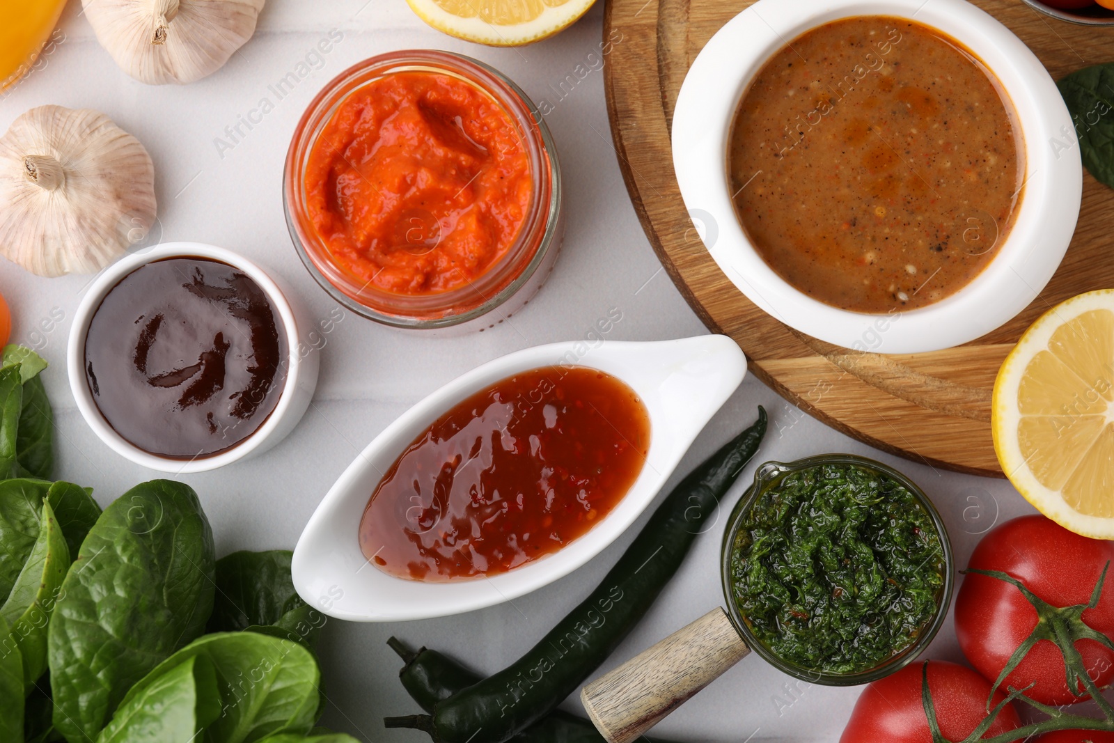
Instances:
[[[449,36],[491,47],[519,47],[571,26],[596,0],[407,0],[418,17]]]

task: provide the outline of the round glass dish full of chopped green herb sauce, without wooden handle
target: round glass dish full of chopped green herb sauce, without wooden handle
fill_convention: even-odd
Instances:
[[[948,534],[907,477],[853,454],[766,462],[723,545],[727,610],[782,672],[866,684],[911,663],[944,624]]]

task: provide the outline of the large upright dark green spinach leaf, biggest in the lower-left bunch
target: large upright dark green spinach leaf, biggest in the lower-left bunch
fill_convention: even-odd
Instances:
[[[55,727],[92,740],[137,681],[213,608],[213,532],[193,488],[137,485],[81,542],[48,628]]]

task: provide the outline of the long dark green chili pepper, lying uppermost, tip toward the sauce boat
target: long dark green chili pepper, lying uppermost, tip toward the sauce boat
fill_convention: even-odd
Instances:
[[[517,662],[433,705],[388,717],[436,743],[504,743],[575,692],[643,617],[677,571],[720,499],[758,451],[766,413],[681,481],[603,583]]]

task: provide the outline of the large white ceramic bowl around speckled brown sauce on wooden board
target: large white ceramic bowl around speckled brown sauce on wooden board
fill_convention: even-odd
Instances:
[[[1025,139],[1025,190],[998,255],[951,296],[891,315],[818,302],[774,273],[735,216],[727,175],[735,110],[765,62],[812,28],[872,14],[919,21],[971,49],[1013,100]],[[1024,310],[1064,257],[1083,189],[1072,117],[1055,82],[1020,39],[965,0],[759,0],[720,29],[688,70],[673,116],[673,166],[690,215],[706,235],[710,219],[716,227],[709,253],[751,302],[813,338],[881,353],[966,343]]]

